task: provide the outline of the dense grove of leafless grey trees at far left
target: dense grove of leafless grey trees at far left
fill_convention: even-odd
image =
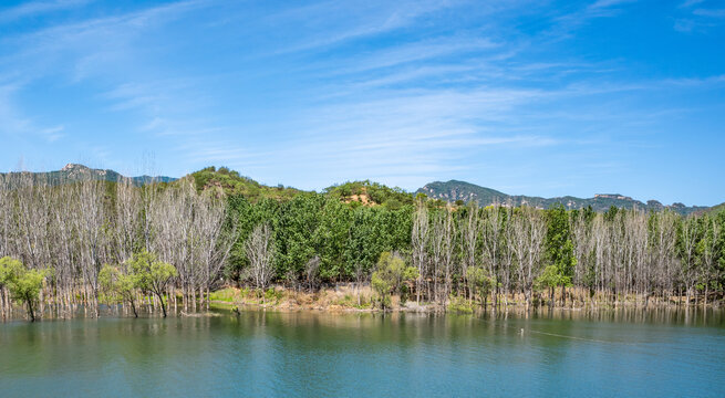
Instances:
[[[111,293],[104,292],[101,271],[107,265],[132,274],[130,260],[144,252],[174,268],[173,280],[159,290],[175,304],[178,296],[184,308],[195,308],[197,292],[208,292],[227,264],[235,239],[228,220],[224,195],[198,192],[188,178],[138,188],[131,180],[50,185],[30,174],[0,177],[0,258],[42,272],[41,285],[30,290],[38,291],[40,314],[49,306],[55,316],[68,317],[82,304],[97,316],[100,298]],[[17,291],[28,281],[17,263],[4,263],[3,315],[13,298],[27,302]],[[154,293],[143,280],[151,273],[135,273],[139,298]],[[163,304],[157,298],[154,302]]]

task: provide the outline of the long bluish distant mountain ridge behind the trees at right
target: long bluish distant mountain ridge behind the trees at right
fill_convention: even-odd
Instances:
[[[673,203],[664,206],[656,200],[648,200],[643,203],[630,197],[619,193],[598,193],[593,198],[582,199],[571,196],[559,198],[540,198],[529,197],[521,195],[507,195],[495,189],[479,187],[477,185],[450,180],[446,182],[435,181],[427,184],[425,187],[417,190],[427,195],[429,198],[441,199],[449,202],[462,200],[464,202],[476,201],[480,206],[489,206],[493,203],[500,203],[505,206],[530,206],[540,209],[548,209],[556,203],[563,205],[567,209],[582,209],[591,206],[594,211],[605,211],[610,207],[631,209],[636,207],[642,210],[662,210],[665,208],[672,209],[680,214],[690,214],[695,211],[708,209],[707,207],[687,207],[683,203]]]

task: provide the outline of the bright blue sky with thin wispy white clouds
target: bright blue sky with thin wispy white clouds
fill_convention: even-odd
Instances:
[[[0,170],[725,201],[725,1],[0,2]]]

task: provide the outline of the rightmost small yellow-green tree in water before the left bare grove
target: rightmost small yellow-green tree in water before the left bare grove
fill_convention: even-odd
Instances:
[[[176,268],[167,262],[158,261],[156,254],[146,250],[134,253],[128,260],[128,265],[134,274],[138,289],[149,292],[158,297],[162,312],[166,317],[166,305],[164,303],[164,293],[172,277],[178,275]]]

